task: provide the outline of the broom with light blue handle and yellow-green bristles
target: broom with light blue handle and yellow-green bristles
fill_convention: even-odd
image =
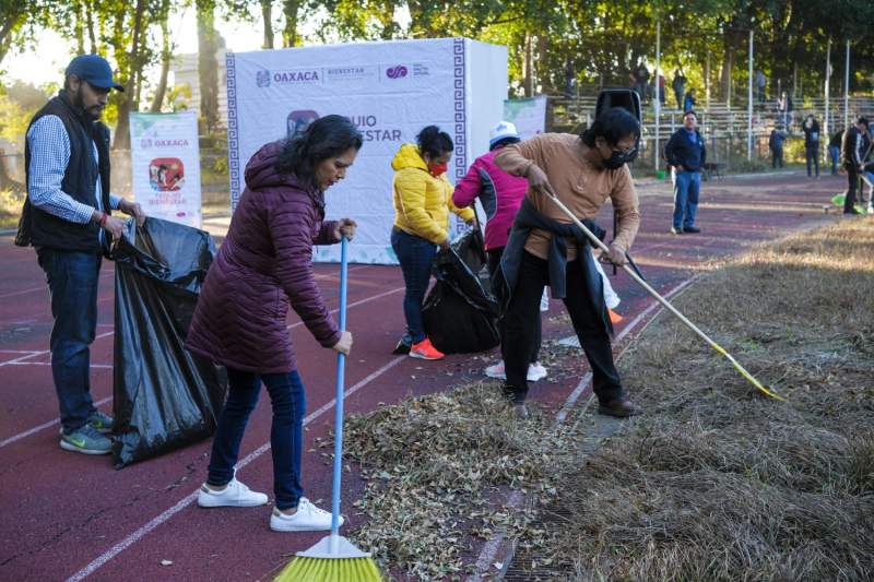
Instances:
[[[340,330],[346,329],[346,237],[340,247]],[[336,403],[334,404],[334,466],[331,490],[331,535],[297,557],[275,582],[381,582],[370,554],[340,535],[340,477],[343,468],[343,372],[345,356],[336,355]]]

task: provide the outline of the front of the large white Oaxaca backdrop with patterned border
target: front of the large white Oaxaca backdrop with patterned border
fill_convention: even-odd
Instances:
[[[507,49],[464,38],[356,43],[228,52],[231,201],[245,189],[249,158],[265,143],[302,131],[319,117],[350,118],[364,146],[346,179],[326,192],[329,218],[358,223],[350,259],[394,264],[391,159],[425,126],[452,136],[453,183],[488,150],[488,129],[507,97]],[[453,222],[453,230],[463,227]],[[336,261],[339,246],[316,247]]]

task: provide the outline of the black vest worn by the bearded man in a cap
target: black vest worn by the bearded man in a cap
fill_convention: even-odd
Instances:
[[[85,117],[84,111],[73,107],[61,92],[36,112],[31,120],[33,126],[39,118],[54,115],[60,118],[70,139],[70,161],[63,173],[61,190],[75,201],[96,206],[96,195],[101,197],[103,209],[109,213],[109,129]],[[31,126],[27,127],[29,132]],[[94,159],[93,145],[97,145],[99,165]],[[31,141],[24,143],[24,168],[26,183],[31,183]],[[101,192],[96,193],[97,176],[101,177]],[[19,221],[15,245],[26,247],[48,247],[71,251],[102,252],[99,226],[88,221],[76,224],[49,214],[24,201]]]

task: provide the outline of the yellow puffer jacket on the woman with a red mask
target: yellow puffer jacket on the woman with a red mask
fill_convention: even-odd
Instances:
[[[449,211],[464,221],[473,219],[471,209],[452,204],[453,187],[446,174],[435,178],[412,143],[401,145],[391,162],[394,169],[394,226],[440,245],[448,238]]]

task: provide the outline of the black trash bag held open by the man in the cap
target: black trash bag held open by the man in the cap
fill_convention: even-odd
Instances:
[[[215,431],[227,373],[184,348],[212,237],[180,224],[131,221],[116,261],[115,371],[117,468],[178,449]]]

